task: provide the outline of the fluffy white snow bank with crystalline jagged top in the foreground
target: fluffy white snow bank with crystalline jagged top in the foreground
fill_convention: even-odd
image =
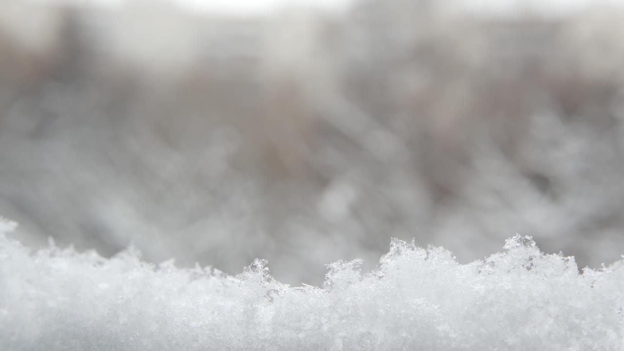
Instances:
[[[265,260],[230,277],[134,249],[31,252],[3,233],[0,349],[622,350],[623,262],[579,274],[516,235],[462,265],[392,240],[368,274],[336,262],[322,288],[290,287]]]

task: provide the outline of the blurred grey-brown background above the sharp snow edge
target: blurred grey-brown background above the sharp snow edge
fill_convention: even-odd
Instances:
[[[624,254],[614,1],[0,0],[0,215],[31,247],[290,284],[391,237]]]

